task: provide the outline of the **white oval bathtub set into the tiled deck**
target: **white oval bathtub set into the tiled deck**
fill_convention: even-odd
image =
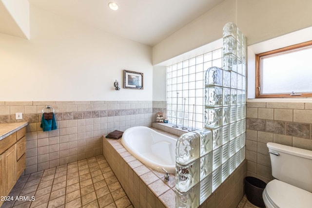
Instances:
[[[157,170],[176,171],[176,139],[148,127],[131,127],[123,132],[122,145],[144,165]]]

